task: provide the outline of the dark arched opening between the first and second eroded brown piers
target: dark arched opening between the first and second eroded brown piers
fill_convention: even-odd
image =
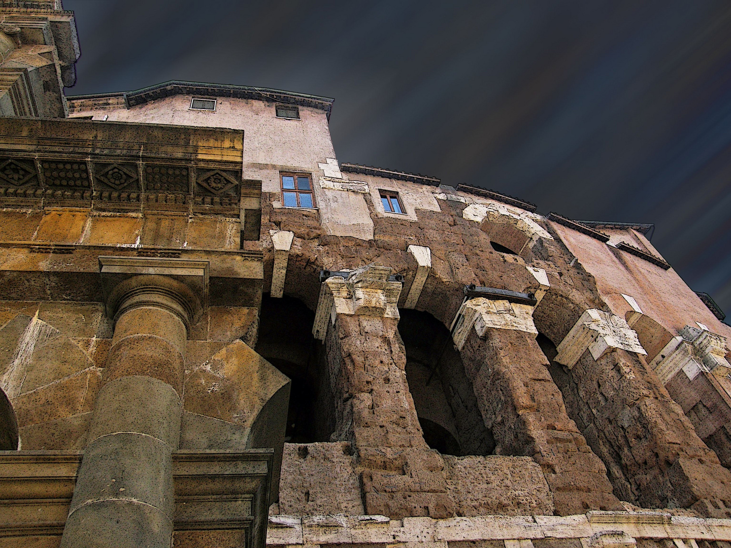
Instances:
[[[431,314],[400,310],[398,332],[406,348],[406,381],[424,441],[442,454],[492,454],[472,383],[449,330]]]

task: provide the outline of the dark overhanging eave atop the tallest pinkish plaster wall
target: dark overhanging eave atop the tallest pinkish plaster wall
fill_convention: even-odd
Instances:
[[[110,94],[69,95],[69,101],[83,101],[85,99],[104,99],[107,97],[121,97],[127,108],[138,104],[145,104],[155,99],[163,99],[175,95],[197,95],[203,97],[233,97],[235,99],[254,99],[284,104],[297,104],[300,107],[312,107],[324,111],[327,120],[333,110],[335,99],[317,95],[297,94],[281,89],[257,88],[250,85],[211,84],[201,82],[186,82],[183,80],[168,80],[147,88],[135,91],[122,91]]]

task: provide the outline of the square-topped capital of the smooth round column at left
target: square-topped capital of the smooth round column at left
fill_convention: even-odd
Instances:
[[[208,305],[208,261],[100,256],[99,273],[107,316],[115,320],[132,308],[154,305],[189,328]]]

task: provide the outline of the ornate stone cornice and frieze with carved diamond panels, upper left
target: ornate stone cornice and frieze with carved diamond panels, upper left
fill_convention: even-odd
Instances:
[[[0,203],[238,218],[242,197],[261,190],[241,179],[242,143],[226,129],[4,118]]]

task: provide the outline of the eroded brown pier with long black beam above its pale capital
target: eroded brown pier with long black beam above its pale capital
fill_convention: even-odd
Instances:
[[[545,280],[536,292],[542,297],[548,278],[542,271],[535,274]],[[455,344],[496,453],[533,457],[556,514],[621,510],[604,463],[567,415],[535,340],[532,313],[531,305],[477,297],[466,301],[455,319]]]

